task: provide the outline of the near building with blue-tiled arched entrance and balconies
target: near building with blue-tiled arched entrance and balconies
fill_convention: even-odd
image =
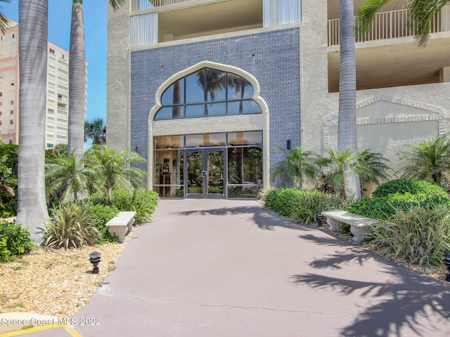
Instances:
[[[337,147],[338,0],[125,2],[108,10],[108,144],[146,157],[161,197],[255,197],[280,149]],[[356,41],[356,123],[395,164],[448,130],[450,6],[418,48],[391,3]]]

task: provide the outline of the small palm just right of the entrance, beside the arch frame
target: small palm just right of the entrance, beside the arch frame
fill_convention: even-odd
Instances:
[[[284,152],[285,159],[271,166],[271,179],[281,178],[285,187],[302,187],[302,178],[314,178],[318,173],[314,161],[316,154],[304,150],[302,147],[294,147],[292,150],[279,149]]]

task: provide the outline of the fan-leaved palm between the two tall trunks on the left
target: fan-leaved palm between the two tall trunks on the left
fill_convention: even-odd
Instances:
[[[98,170],[84,165],[84,160],[60,155],[46,163],[46,190],[49,201],[74,202],[88,197],[88,192],[101,190]],[[89,183],[89,190],[88,190]]]

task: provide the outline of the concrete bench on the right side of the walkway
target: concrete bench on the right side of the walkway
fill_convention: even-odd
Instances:
[[[326,217],[326,223],[330,226],[328,229],[331,231],[340,230],[340,223],[350,225],[350,232],[353,234],[353,242],[355,244],[360,244],[364,237],[372,231],[371,226],[380,223],[378,220],[346,211],[325,211],[321,213]]]

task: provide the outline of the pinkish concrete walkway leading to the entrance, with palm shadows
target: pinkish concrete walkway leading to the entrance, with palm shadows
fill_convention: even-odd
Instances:
[[[133,235],[85,337],[450,336],[449,286],[257,201],[162,200]]]

